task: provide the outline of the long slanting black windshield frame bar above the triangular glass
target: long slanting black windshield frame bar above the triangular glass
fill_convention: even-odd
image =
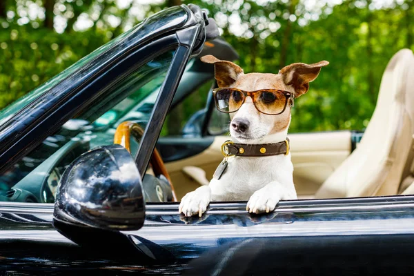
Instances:
[[[135,48],[124,58],[104,68],[101,75],[95,75],[95,78],[82,83],[81,87],[75,86],[62,92],[65,94],[63,99],[46,101],[40,106],[44,109],[39,117],[23,119],[18,122],[19,124],[10,126],[3,134],[0,133],[0,137],[10,138],[10,141],[7,141],[8,139],[3,140],[6,140],[5,142],[8,142],[6,144],[10,146],[0,151],[0,173],[10,168],[21,157],[41,144],[46,137],[57,131],[68,119],[89,108],[100,95],[122,81],[137,68],[168,50],[177,49],[178,46],[179,40],[173,33],[155,41],[150,41],[146,46]],[[53,97],[55,93],[56,90],[52,89],[46,93],[45,97]],[[43,99],[42,97],[36,101],[42,101]],[[33,139],[33,137],[36,137],[36,139]]]

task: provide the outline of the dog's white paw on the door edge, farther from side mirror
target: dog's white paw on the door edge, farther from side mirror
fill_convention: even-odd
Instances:
[[[279,201],[280,197],[278,195],[264,187],[253,193],[247,202],[246,210],[248,213],[269,213],[275,210]]]

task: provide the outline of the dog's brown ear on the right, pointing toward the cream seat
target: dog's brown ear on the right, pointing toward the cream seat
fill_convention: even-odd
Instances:
[[[299,97],[308,92],[309,83],[316,79],[322,66],[328,64],[328,61],[319,61],[313,64],[293,63],[282,68],[279,74],[282,75],[286,86],[291,86],[295,90],[295,97]]]

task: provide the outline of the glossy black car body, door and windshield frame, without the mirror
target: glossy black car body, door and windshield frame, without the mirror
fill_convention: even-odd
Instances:
[[[153,32],[140,37],[139,29],[146,26]],[[181,6],[128,32],[0,126],[0,169],[6,170],[64,121],[88,108],[130,70],[159,50],[175,46],[174,61],[135,157],[142,175],[184,67],[201,50],[205,31],[205,18]],[[250,215],[245,208],[245,202],[218,202],[210,204],[201,218],[185,218],[178,214],[177,203],[147,204],[144,227],[119,232],[53,225],[52,204],[0,202],[0,270],[18,275],[397,275],[414,271],[410,262],[414,197],[282,201],[266,215]]]

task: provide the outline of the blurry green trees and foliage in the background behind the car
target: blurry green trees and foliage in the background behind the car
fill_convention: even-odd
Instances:
[[[2,0],[0,109],[144,17],[179,3]],[[295,102],[290,132],[364,128],[386,63],[398,50],[414,49],[413,0],[184,3],[195,3],[215,17],[223,37],[239,52],[237,63],[244,72],[277,73],[289,63],[330,62],[308,94]],[[180,123],[170,124],[171,133],[204,108],[206,91],[197,90],[177,108],[174,120]]]

